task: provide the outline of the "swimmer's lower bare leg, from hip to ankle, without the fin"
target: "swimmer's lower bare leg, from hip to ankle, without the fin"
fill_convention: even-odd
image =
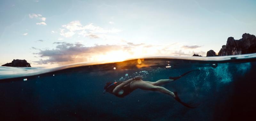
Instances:
[[[142,90],[151,90],[151,91],[158,91],[164,94],[170,95],[175,98],[175,94],[164,87],[155,86],[148,82],[144,82],[142,80],[133,81],[130,83],[130,87],[132,89],[142,89]]]

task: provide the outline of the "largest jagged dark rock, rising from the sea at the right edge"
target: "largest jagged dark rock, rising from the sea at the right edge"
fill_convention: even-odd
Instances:
[[[222,46],[218,56],[249,53],[256,53],[256,37],[254,35],[244,33],[242,39],[239,40],[229,37],[227,44]]]

